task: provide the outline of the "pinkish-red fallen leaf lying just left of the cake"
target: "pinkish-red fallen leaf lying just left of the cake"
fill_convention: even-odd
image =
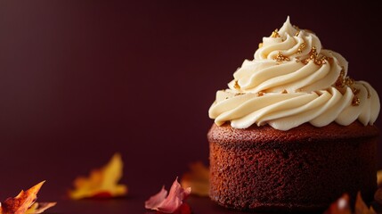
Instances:
[[[188,204],[184,203],[184,200],[187,199],[190,193],[191,187],[183,189],[176,177],[173,185],[171,185],[170,193],[168,193],[168,195],[167,190],[162,186],[159,193],[154,194],[149,200],[144,202],[144,208],[148,210],[157,210],[162,213],[191,213]]]

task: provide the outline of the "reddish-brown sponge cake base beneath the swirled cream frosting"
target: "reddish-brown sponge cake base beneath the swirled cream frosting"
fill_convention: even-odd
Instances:
[[[215,124],[210,198],[235,210],[325,210],[343,193],[370,201],[377,188],[378,128],[359,122],[289,131]]]

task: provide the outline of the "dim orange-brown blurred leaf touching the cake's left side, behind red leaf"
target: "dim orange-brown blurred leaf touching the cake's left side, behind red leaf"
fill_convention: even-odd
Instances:
[[[192,194],[199,196],[209,195],[209,169],[200,161],[191,163],[190,172],[183,175],[183,187],[191,186]]]

